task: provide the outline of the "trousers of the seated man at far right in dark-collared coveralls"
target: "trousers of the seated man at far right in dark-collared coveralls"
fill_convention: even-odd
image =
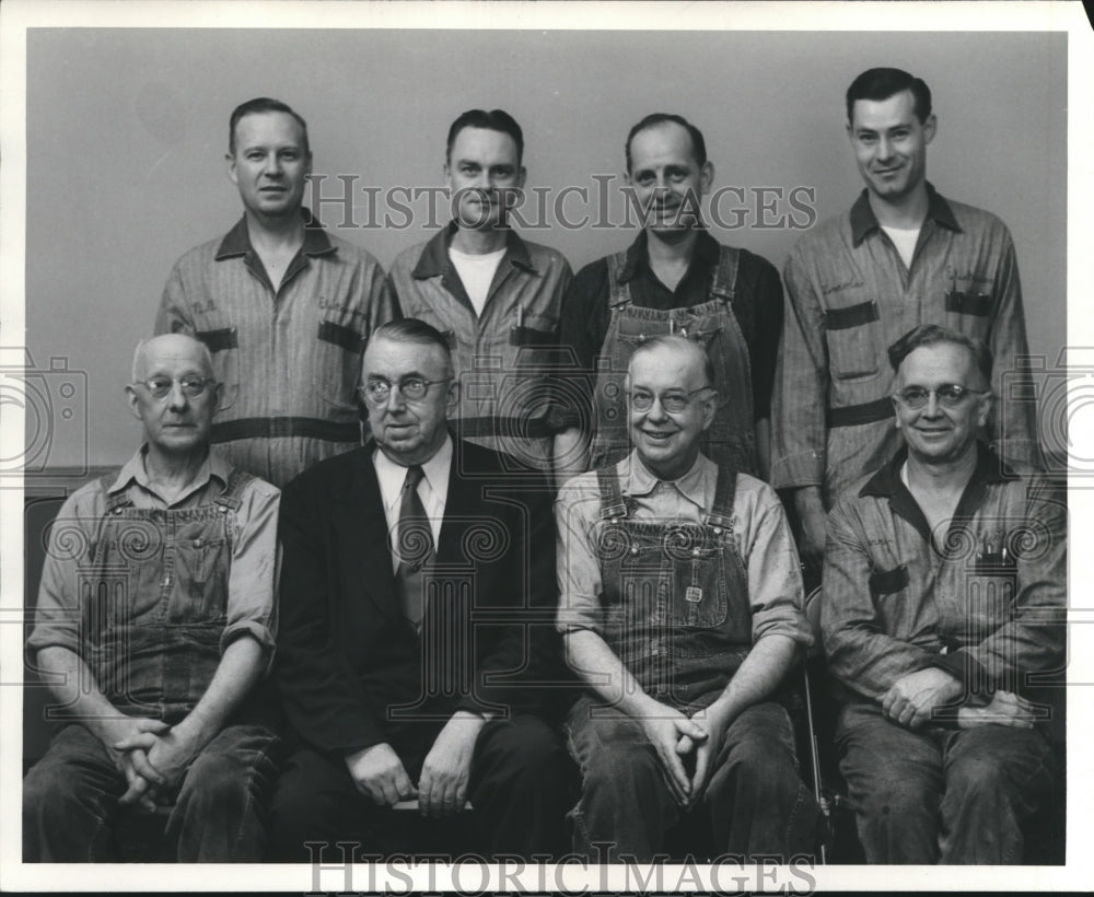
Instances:
[[[866,862],[1022,862],[1021,824],[1052,788],[1037,730],[912,731],[880,707],[848,704],[836,741]]]

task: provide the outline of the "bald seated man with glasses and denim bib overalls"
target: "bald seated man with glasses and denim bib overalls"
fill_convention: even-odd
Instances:
[[[23,783],[25,862],[117,861],[123,807],[174,807],[182,862],[263,859],[278,739],[247,700],[274,654],[277,488],[209,446],[220,384],[184,335],[140,343],[144,444],[55,522],[28,652],[63,727]]]

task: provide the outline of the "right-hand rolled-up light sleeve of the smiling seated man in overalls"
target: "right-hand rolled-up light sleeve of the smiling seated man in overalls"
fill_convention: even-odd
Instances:
[[[742,557],[747,558],[753,643],[778,634],[807,648],[813,633],[802,610],[802,571],[790,524],[775,491],[759,480],[750,482],[755,490],[738,485],[735,504],[743,524]]]

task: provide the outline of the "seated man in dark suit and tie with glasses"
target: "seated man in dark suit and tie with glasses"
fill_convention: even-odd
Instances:
[[[561,677],[551,494],[451,435],[457,384],[430,325],[377,328],[362,383],[373,441],[282,498],[276,679],[302,745],[275,796],[278,859],[412,849],[382,839],[414,797],[434,818],[469,802],[491,853],[555,851],[568,760],[537,715]]]

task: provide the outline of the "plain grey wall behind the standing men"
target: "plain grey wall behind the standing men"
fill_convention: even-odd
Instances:
[[[624,138],[654,110],[695,121],[715,187],[735,188],[715,235],[781,268],[811,223],[801,207],[827,218],[860,189],[843,132],[848,83],[871,66],[906,68],[935,97],[930,179],[1010,225],[1031,350],[1051,368],[1066,342],[1066,35],[48,28],[30,32],[27,47],[26,343],[46,382],[50,364],[67,363],[85,391],[55,397],[73,413],[36,450],[47,468],[131,453],[138,428],[121,384],[132,347],[151,333],[175,259],[240,215],[228,116],[258,95],[307,119],[323,195],[349,184],[353,198],[348,219],[329,202],[321,218],[385,268],[433,233],[427,201],[406,190],[442,183],[447,126],[475,106],[523,126],[528,187],[550,190],[525,218],[554,224],[525,236],[574,270],[633,238],[592,224],[621,222]],[[570,191],[561,217],[587,215],[585,226],[558,222],[568,186],[587,200]],[[393,187],[404,191],[388,201]],[[791,205],[798,187],[812,193]],[[375,226],[385,212],[394,226]],[[447,219],[444,203],[433,218]]]

